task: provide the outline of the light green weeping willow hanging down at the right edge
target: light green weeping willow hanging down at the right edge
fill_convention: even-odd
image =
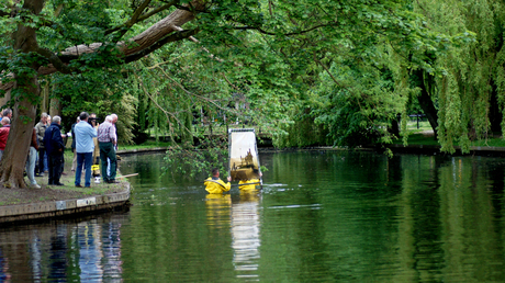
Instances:
[[[448,35],[471,31],[475,36],[474,42],[434,58],[446,70],[442,76],[424,75],[437,109],[442,150],[453,152],[459,143],[469,151],[472,139],[487,138],[493,129],[505,133],[504,3],[419,0],[415,10],[435,31]]]

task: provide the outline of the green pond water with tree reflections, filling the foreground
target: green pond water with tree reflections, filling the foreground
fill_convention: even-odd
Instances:
[[[260,161],[262,192],[209,197],[201,182],[160,178],[161,155],[124,157],[122,173],[139,173],[130,212],[0,228],[0,282],[505,280],[502,158]]]

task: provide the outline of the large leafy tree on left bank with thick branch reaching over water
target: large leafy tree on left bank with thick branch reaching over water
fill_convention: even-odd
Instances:
[[[2,42],[0,76],[2,89],[11,91],[15,118],[5,148],[8,154],[0,163],[0,182],[24,186],[21,172],[27,149],[18,149],[27,148],[27,129],[34,123],[34,107],[40,98],[36,82],[42,76],[106,70],[198,34],[201,46],[205,47],[201,48],[200,60],[212,66],[209,72],[226,75],[222,82],[228,84],[227,93],[207,93],[209,102],[234,92],[243,93],[256,102],[254,106],[259,113],[269,115],[265,123],[274,128],[288,120],[287,110],[316,83],[317,68],[329,70],[333,61],[343,60],[341,56],[349,56],[349,61],[354,59],[354,65],[363,69],[377,67],[383,54],[374,47],[378,38],[379,43],[390,42],[400,49],[438,49],[442,45],[440,38],[423,27],[422,19],[409,11],[409,3],[406,0],[134,0],[130,4],[86,0],[3,1],[0,25],[16,25],[14,30],[5,30],[12,31],[12,41]],[[429,65],[423,58],[416,64]],[[173,83],[182,86],[180,89],[187,93],[200,89],[189,89],[177,79]],[[372,112],[378,113],[373,107]]]

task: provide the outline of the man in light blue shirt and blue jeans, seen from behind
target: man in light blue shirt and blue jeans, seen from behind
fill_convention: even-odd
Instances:
[[[91,163],[93,159],[94,142],[97,137],[97,129],[89,123],[88,112],[82,112],[79,115],[80,122],[74,127],[76,132],[76,152],[77,152],[77,168],[76,168],[76,186],[82,188],[80,179],[82,174],[82,166],[85,166],[85,186],[91,186]]]

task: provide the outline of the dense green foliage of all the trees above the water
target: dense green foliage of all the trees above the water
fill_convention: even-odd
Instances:
[[[0,2],[3,83],[33,73],[33,65],[55,65],[47,54],[56,54],[58,72],[40,82],[67,125],[80,111],[116,112],[120,140],[168,135],[179,158],[205,145],[213,126],[236,122],[261,127],[278,147],[407,143],[406,115],[426,112],[419,93],[436,112],[442,150],[468,149],[505,126],[498,2],[48,0],[40,15],[24,2]],[[175,37],[123,56],[135,45],[128,39],[193,7],[201,8]],[[12,48],[16,24],[36,29],[38,52]],[[99,47],[69,54],[80,44]]]

